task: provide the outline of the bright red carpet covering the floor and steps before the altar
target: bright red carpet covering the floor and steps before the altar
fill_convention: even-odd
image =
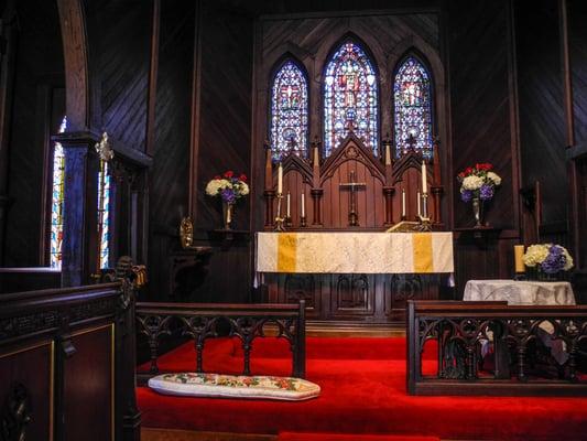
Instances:
[[[205,369],[238,374],[238,344],[210,342]],[[208,344],[208,343],[207,343]],[[434,347],[425,370],[435,368]],[[302,402],[178,398],[138,389],[143,426],[200,431],[327,432],[465,440],[586,440],[587,398],[411,397],[405,394],[404,338],[307,338],[307,379],[322,396]],[[184,345],[160,358],[162,370],[193,370]],[[289,375],[290,352],[256,341],[253,374]],[[327,439],[327,438],[326,438]]]

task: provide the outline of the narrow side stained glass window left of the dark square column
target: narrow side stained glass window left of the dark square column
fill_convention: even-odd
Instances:
[[[67,127],[67,117],[63,118],[59,133]],[[50,230],[50,266],[62,267],[63,243],[63,201],[65,190],[65,153],[63,146],[55,142],[53,148],[53,180],[51,191],[51,230]]]

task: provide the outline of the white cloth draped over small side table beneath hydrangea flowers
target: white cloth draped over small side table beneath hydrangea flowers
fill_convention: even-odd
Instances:
[[[465,301],[508,301],[508,304],[576,304],[569,282],[469,280]]]

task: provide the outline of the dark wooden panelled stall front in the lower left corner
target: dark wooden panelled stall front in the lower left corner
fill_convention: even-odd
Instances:
[[[133,299],[128,280],[0,297],[0,439],[139,439]]]

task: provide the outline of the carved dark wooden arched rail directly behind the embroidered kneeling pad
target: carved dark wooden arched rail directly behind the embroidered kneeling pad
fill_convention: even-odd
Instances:
[[[243,375],[250,375],[253,341],[265,331],[276,331],[278,337],[290,343],[292,376],[304,378],[306,365],[305,301],[298,304],[238,303],[137,303],[137,332],[146,336],[151,365],[148,373],[139,372],[144,384],[160,373],[157,358],[165,336],[183,336],[194,341],[196,372],[204,372],[204,346],[208,338],[236,336],[242,343]]]

